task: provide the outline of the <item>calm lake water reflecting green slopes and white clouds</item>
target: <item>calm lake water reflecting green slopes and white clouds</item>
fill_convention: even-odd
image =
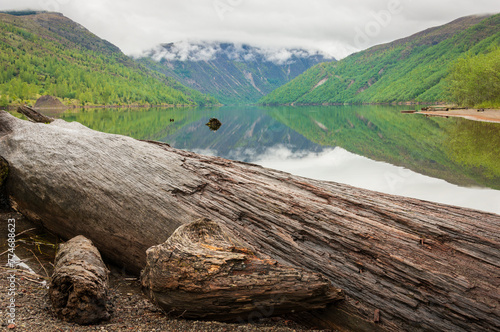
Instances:
[[[500,214],[500,124],[400,113],[408,108],[135,108],[50,115],[310,178]],[[205,125],[212,117],[222,122],[216,132]]]

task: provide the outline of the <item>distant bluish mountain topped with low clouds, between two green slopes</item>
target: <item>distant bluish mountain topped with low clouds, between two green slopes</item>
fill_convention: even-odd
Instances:
[[[137,61],[224,104],[237,104],[258,101],[326,59],[302,49],[180,42],[145,51]]]

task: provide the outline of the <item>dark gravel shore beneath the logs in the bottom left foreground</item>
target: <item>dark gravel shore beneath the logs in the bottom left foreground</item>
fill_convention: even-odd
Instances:
[[[15,253],[36,273],[18,270],[15,273],[15,327],[8,322],[7,305],[11,301],[8,294],[11,273],[7,264],[8,219],[16,220]],[[2,331],[318,331],[301,326],[282,317],[268,318],[258,322],[226,324],[220,322],[191,321],[182,317],[169,317],[151,304],[143,295],[139,281],[127,276],[113,266],[109,266],[110,299],[112,317],[99,325],[79,326],[57,319],[50,307],[46,283],[52,273],[53,260],[57,249],[56,237],[46,234],[43,229],[27,221],[19,214],[0,211],[0,330]],[[45,283],[44,283],[45,282]],[[326,331],[326,330],[322,330]]]

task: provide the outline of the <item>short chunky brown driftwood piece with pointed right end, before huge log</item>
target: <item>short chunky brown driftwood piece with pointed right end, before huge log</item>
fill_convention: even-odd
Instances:
[[[321,274],[257,255],[206,218],[149,248],[141,279],[165,312],[194,319],[248,321],[344,298]]]

